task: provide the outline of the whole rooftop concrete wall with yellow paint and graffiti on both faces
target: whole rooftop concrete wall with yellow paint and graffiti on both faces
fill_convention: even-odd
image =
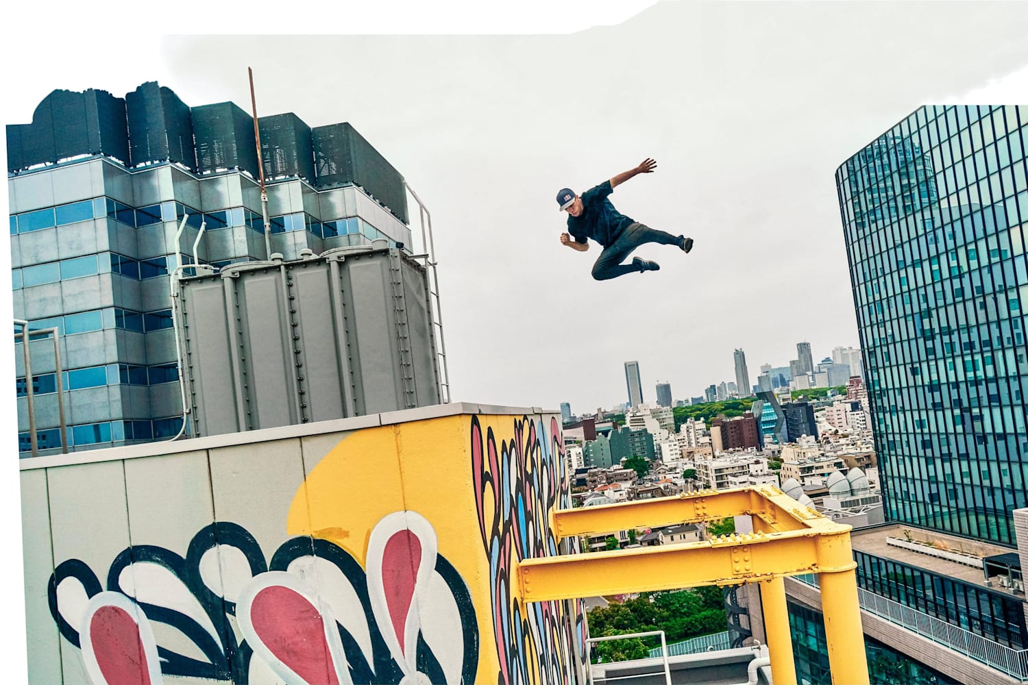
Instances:
[[[560,422],[446,405],[22,464],[30,682],[579,683]]]

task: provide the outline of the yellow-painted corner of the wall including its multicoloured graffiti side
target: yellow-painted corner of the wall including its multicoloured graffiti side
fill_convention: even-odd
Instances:
[[[461,415],[360,430],[307,474],[288,530],[330,540],[367,567],[370,533],[383,516],[425,517],[471,593],[482,645],[475,682],[578,682],[581,603],[525,605],[513,571],[521,558],[555,550],[549,511],[567,505],[561,446],[559,424],[540,416]]]

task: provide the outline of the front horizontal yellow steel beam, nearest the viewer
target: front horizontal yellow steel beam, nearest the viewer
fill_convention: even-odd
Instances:
[[[526,559],[518,565],[518,582],[526,602],[543,602],[843,571],[856,566],[852,557],[833,553],[841,545],[823,544],[824,538],[848,537],[849,526],[838,528],[834,534],[733,534],[703,542]]]

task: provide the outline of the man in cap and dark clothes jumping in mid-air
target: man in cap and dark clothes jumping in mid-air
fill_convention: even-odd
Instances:
[[[645,242],[659,242],[663,245],[677,245],[684,252],[693,249],[693,239],[684,235],[677,237],[664,231],[658,231],[633,221],[619,213],[611,204],[608,195],[614,189],[636,174],[651,174],[657,167],[657,162],[647,158],[635,168],[618,174],[610,181],[590,188],[576,195],[571,188],[563,188],[557,193],[557,204],[561,211],[567,212],[567,233],[560,234],[561,244],[578,252],[589,249],[588,239],[592,238],[603,246],[599,258],[592,267],[592,277],[596,280],[616,278],[633,271],[656,271],[660,265],[656,262],[635,257],[628,264],[622,264],[633,250]]]

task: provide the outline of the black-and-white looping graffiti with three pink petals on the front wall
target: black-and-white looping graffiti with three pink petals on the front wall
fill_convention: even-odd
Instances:
[[[365,567],[330,540],[286,540],[266,562],[243,527],[214,523],[185,557],[133,545],[106,591],[79,560],[48,584],[61,635],[100,685],[187,676],[289,685],[473,683],[479,632],[467,583],[411,510],[370,531]],[[425,619],[425,617],[431,617]]]

